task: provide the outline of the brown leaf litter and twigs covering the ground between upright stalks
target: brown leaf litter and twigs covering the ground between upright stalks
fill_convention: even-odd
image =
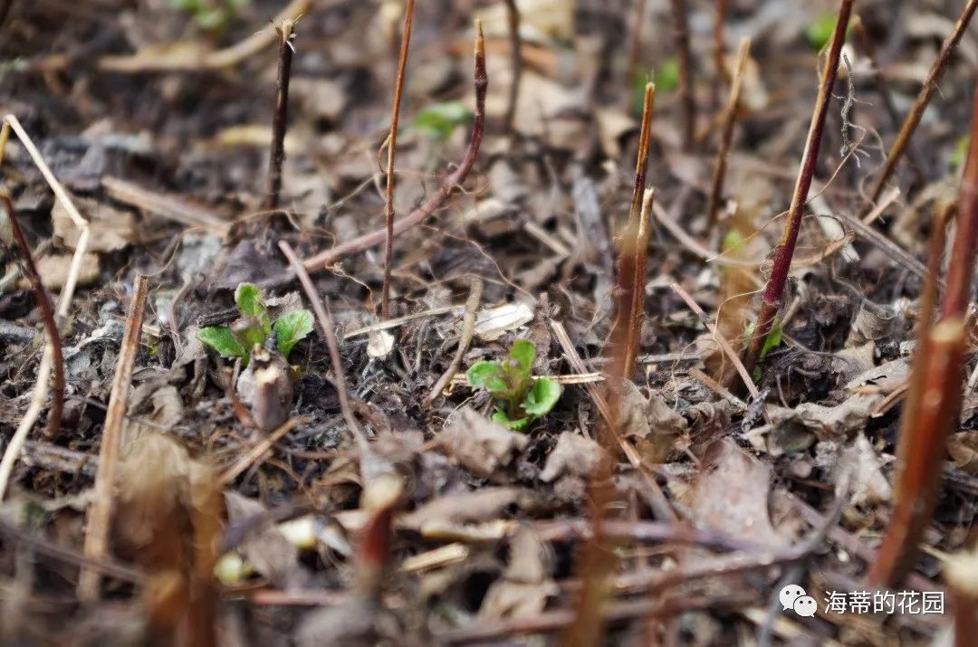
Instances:
[[[932,318],[922,297],[932,214],[956,199],[963,172],[972,32],[871,217],[866,196],[880,149],[897,137],[884,108],[911,110],[961,3],[911,2],[906,16],[857,3],[875,47],[846,41],[798,256],[776,334],[747,371],[749,395],[732,357],[776,271],[837,2],[728,10],[721,59],[733,69],[741,36],[751,49],[712,228],[728,92],[705,55],[712,3],[419,3],[389,272],[378,160],[404,3],[236,0],[211,3],[222,7],[213,14],[63,4],[0,2],[0,108],[18,116],[81,214],[52,194],[20,135],[0,137],[15,212],[4,222],[22,224],[54,302],[78,286],[56,322],[60,429],[33,425],[0,501],[0,641],[581,644],[567,631],[589,617],[580,601],[597,573],[584,566],[591,541],[617,562],[595,616],[603,644],[931,644],[955,630],[952,598],[975,599],[973,354],[944,487],[902,582],[945,593],[945,613],[822,610],[830,588],[869,589],[879,538],[909,496],[898,487],[900,420]],[[697,64],[689,146],[675,7],[688,14]],[[287,19],[286,159],[281,199],[266,209],[271,45]],[[620,379],[615,276],[641,137],[634,89],[649,78],[659,86],[653,231],[637,281],[643,317],[626,344],[635,370]],[[45,347],[6,225],[4,452]],[[296,291],[280,243],[305,261],[315,299]],[[109,547],[86,558],[138,276],[150,277],[150,298],[114,488],[100,501]],[[467,382],[473,367],[485,374]],[[612,494],[596,512],[600,489]],[[81,604],[77,582],[91,572],[101,585]],[[819,601],[815,618],[771,611],[789,578]]]

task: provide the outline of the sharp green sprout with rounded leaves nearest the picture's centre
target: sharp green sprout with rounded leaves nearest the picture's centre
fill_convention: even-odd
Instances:
[[[492,419],[507,429],[522,430],[554,409],[563,387],[549,377],[530,373],[537,347],[527,339],[512,342],[502,362],[477,362],[466,372],[473,389],[485,389],[496,401]]]

